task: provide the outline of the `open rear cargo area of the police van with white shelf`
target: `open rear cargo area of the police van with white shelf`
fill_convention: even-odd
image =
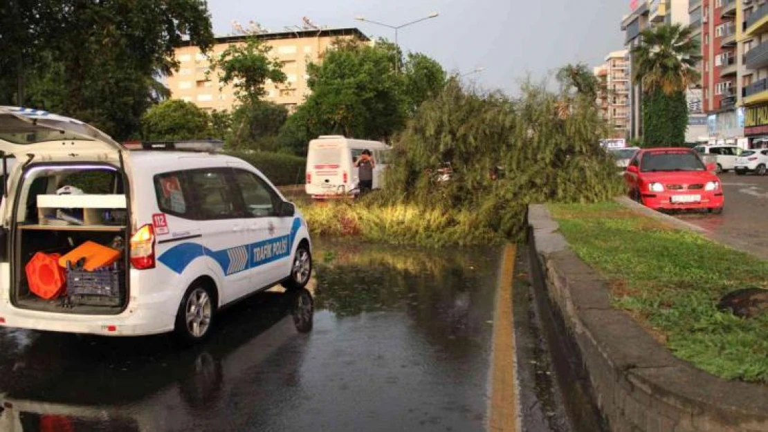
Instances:
[[[129,200],[124,183],[121,170],[108,163],[46,163],[25,170],[16,188],[11,225],[11,301],[15,307],[86,315],[124,310],[129,298],[130,268]],[[48,266],[35,267],[32,277],[50,280],[50,269],[58,270],[50,262],[58,262],[59,256],[66,256],[86,242],[118,251],[114,255],[119,257],[98,272],[84,269],[83,261],[79,265],[71,262],[73,269],[61,267],[61,279],[68,286],[55,298],[43,298],[39,289],[38,293],[31,289],[34,281],[28,277],[27,267],[35,265],[30,262],[38,252],[45,254]]]

